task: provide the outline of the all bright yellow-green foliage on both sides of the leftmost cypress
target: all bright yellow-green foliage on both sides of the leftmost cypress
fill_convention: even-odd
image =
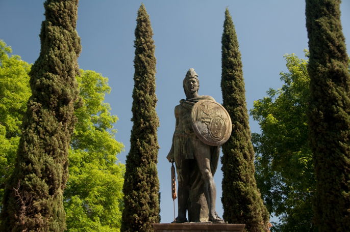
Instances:
[[[10,47],[0,43],[0,93],[4,94],[0,101],[4,129],[0,137],[0,192],[3,192],[6,178],[13,170],[22,115],[31,95],[28,75],[31,66],[18,55],[9,57]],[[80,70],[77,81],[82,107],[75,111],[77,124],[70,143],[69,179],[64,192],[67,231],[118,231],[124,165],[116,163],[116,153],[122,149],[122,144],[114,139],[113,124],[117,117],[110,114],[109,104],[104,103],[111,88],[107,78],[93,71]],[[15,132],[6,135],[7,131]]]

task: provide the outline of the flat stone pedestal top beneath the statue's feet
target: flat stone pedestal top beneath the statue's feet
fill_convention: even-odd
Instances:
[[[242,232],[245,224],[225,223],[154,223],[155,232]]]

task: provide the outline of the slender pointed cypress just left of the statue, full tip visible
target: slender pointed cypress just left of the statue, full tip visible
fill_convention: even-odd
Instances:
[[[157,173],[159,126],[156,112],[156,57],[151,21],[143,4],[137,13],[134,59],[134,122],[124,179],[121,231],[153,231],[159,216]]]

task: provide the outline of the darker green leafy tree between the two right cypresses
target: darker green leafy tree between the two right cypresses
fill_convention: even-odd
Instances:
[[[257,184],[269,212],[280,217],[273,231],[316,231],[311,204],[316,180],[306,117],[308,61],[295,54],[285,59],[282,88],[270,89],[251,110],[261,128],[261,134],[253,134]]]

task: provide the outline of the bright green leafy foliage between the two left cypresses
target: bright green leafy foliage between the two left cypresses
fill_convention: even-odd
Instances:
[[[69,179],[64,191],[67,228],[78,231],[119,231],[124,165],[117,162],[122,144],[114,138],[117,121],[104,102],[108,79],[81,70],[77,77],[83,106],[69,153]]]

